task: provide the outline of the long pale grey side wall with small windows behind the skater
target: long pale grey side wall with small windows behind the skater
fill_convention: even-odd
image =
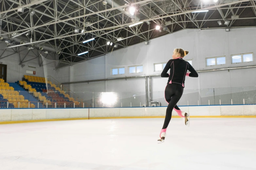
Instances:
[[[188,29],[179,31],[150,40],[149,45],[140,43],[114,51],[112,54],[108,53],[105,56],[89,60],[83,64],[75,64],[70,67],[70,70],[72,70],[70,71],[70,81],[160,74],[161,71],[154,71],[154,64],[167,63],[171,59],[174,48],[182,48],[189,51],[189,54],[184,59],[192,60],[192,66],[195,70],[255,65],[255,31],[256,28],[237,28],[231,29],[230,32],[226,32],[225,29]],[[253,52],[254,54],[253,62],[231,64],[231,55],[249,52]],[[206,58],[218,56],[226,56],[225,65],[206,66]],[[129,74],[128,66],[132,65],[143,65],[143,73]],[[118,67],[125,67],[125,74],[111,75],[111,68]],[[188,95],[183,96],[181,100],[185,102],[186,99],[184,97],[190,98],[189,94],[192,95],[192,93],[198,92],[201,97],[212,96],[213,88],[217,89],[217,93],[220,94],[230,93],[232,90],[233,92],[242,92],[244,91],[243,89],[239,90],[236,87],[255,86],[256,74],[252,74],[255,72],[256,68],[247,68],[202,72],[199,73],[198,78],[186,77],[184,94]],[[153,101],[163,100],[163,98],[159,98],[163,97],[167,79],[160,77],[152,78]],[[89,84],[81,83],[72,84],[71,87],[73,91],[78,92],[145,92],[145,79],[109,80]],[[197,98],[195,97],[193,99],[193,101],[195,100],[195,104],[197,104],[197,100],[203,103],[201,99]],[[206,101],[208,104],[208,99]],[[213,102],[213,99],[211,102]]]

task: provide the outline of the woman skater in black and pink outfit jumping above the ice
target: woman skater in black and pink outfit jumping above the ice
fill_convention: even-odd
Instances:
[[[182,96],[185,76],[189,77],[198,77],[197,72],[194,70],[191,64],[183,60],[189,51],[184,51],[183,49],[174,49],[173,59],[169,60],[166,66],[164,67],[161,77],[169,77],[168,83],[165,88],[165,100],[167,101],[168,106],[166,109],[166,116],[164,120],[163,128],[160,132],[160,138],[158,143],[164,142],[166,136],[167,126],[172,118],[173,109],[178,113],[180,117],[185,118],[185,125],[189,125],[189,114],[181,111],[176,105],[179,99]],[[168,70],[170,69],[170,74]],[[187,71],[191,73],[187,73]]]

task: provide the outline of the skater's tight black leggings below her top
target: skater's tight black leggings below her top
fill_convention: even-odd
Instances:
[[[169,122],[172,118],[172,112],[175,109],[180,110],[179,107],[176,105],[183,94],[183,87],[179,84],[172,83],[167,84],[165,88],[165,100],[169,103],[166,109],[166,115],[164,120],[164,125],[162,129],[166,129],[169,125]]]

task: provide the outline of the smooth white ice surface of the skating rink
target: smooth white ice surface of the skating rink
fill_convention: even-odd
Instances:
[[[0,125],[1,170],[256,170],[255,118],[68,120]]]

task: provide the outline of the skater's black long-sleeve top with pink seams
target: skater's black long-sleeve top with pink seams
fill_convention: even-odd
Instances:
[[[170,75],[167,73],[169,69]],[[189,77],[198,77],[197,72],[189,62],[183,60],[181,57],[171,59],[167,62],[166,66],[164,67],[164,70],[161,73],[161,77],[169,77],[168,83],[178,83],[184,87],[185,77],[188,70],[191,72],[188,75]]]

